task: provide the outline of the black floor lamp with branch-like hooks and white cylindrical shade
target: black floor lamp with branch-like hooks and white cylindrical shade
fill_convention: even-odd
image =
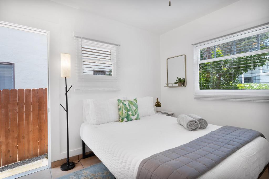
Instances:
[[[61,170],[67,171],[71,170],[75,167],[74,162],[69,162],[69,138],[68,138],[68,101],[67,101],[67,93],[72,86],[67,90],[66,78],[70,78],[71,76],[71,56],[68,53],[61,53],[61,78],[65,78],[65,101],[66,101],[66,109],[60,104],[66,112],[66,130],[67,130],[67,158],[66,163],[61,165]]]

